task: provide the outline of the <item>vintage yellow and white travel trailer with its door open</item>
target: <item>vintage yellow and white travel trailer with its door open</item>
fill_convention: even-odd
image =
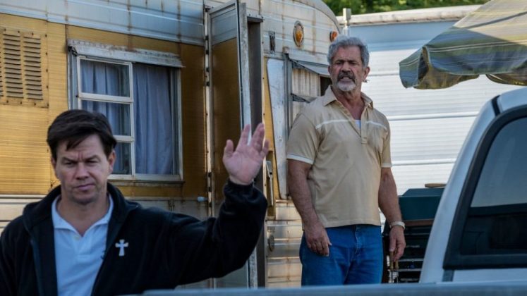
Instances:
[[[190,286],[298,285],[285,143],[329,85],[339,31],[321,0],[0,0],[0,232],[59,185],[46,134],[62,111],[107,115],[119,142],[110,179],[126,197],[200,218],[222,202],[226,139],[264,121],[260,244],[243,269]]]

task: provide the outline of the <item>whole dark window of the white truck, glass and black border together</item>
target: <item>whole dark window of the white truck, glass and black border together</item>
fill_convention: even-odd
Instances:
[[[485,133],[462,190],[444,269],[527,264],[527,109]]]

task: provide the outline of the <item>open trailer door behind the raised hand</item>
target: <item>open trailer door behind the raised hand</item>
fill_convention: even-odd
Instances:
[[[212,215],[216,216],[224,200],[223,185],[229,177],[222,162],[226,140],[233,140],[236,147],[243,126],[253,123],[255,128],[254,123],[262,121],[261,86],[255,83],[253,92],[249,88],[250,80],[261,84],[261,78],[258,80],[258,75],[261,77],[261,54],[254,57],[251,52],[249,60],[250,51],[260,52],[260,26],[253,30],[255,22],[248,23],[246,4],[238,4],[237,1],[212,8],[207,15],[210,199]],[[248,36],[249,31],[251,36]],[[255,70],[251,71],[251,67]],[[255,116],[252,117],[252,113]],[[242,269],[214,279],[214,287],[255,286],[255,266],[253,255]]]

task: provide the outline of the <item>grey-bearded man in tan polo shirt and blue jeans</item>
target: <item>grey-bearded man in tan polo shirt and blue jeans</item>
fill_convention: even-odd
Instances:
[[[289,194],[300,213],[302,285],[380,283],[379,208],[389,251],[403,252],[387,118],[361,92],[368,47],[339,36],[327,54],[332,85],[298,113],[287,143]]]

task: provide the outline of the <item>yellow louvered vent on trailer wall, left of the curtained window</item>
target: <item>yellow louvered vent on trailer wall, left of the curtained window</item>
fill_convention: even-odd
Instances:
[[[0,60],[4,68],[4,75],[0,77],[0,90],[3,88],[0,97],[41,100],[40,35],[4,29],[0,45],[4,53]]]

